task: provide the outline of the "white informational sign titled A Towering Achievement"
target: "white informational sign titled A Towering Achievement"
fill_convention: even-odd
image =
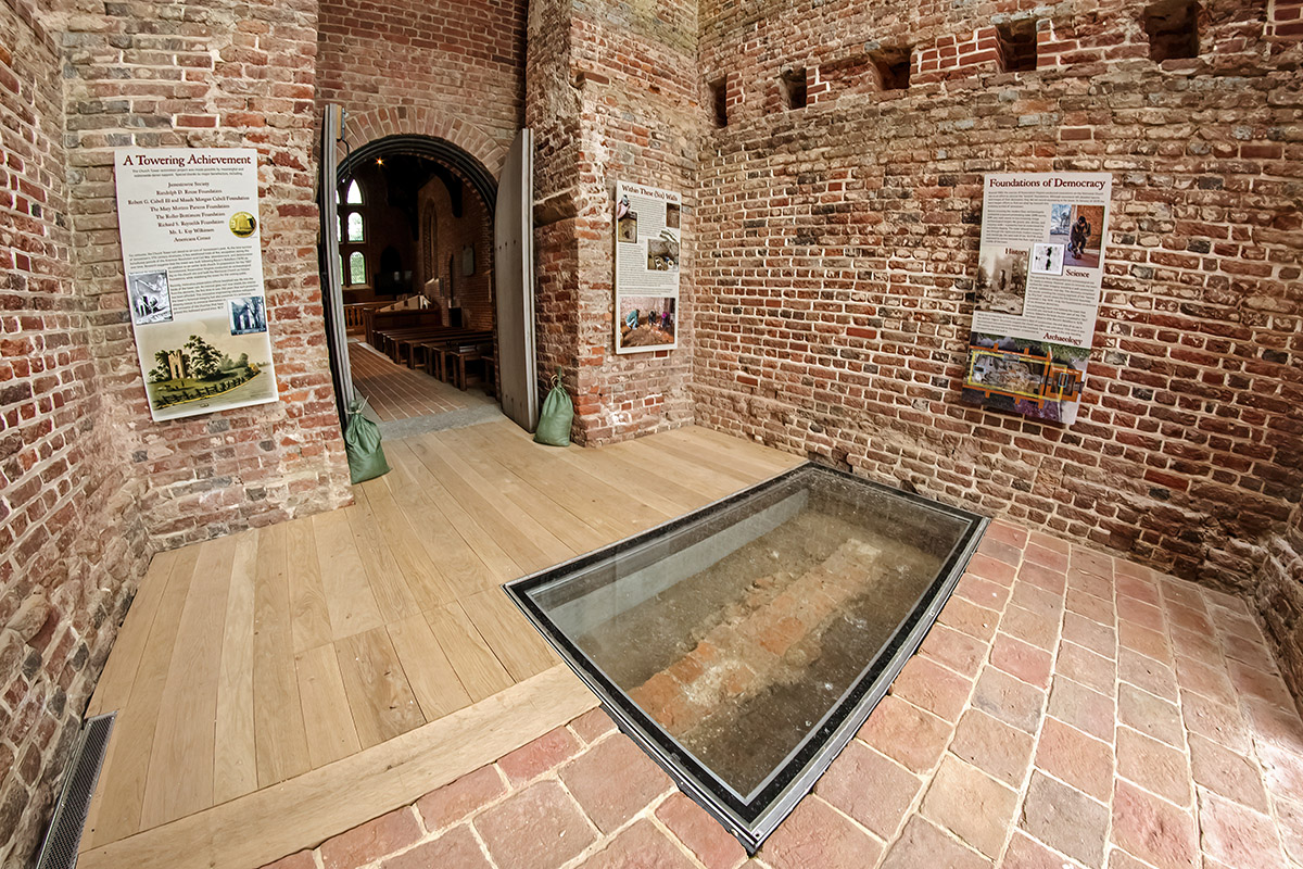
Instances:
[[[278,397],[251,149],[120,149],[117,224],[155,421]]]

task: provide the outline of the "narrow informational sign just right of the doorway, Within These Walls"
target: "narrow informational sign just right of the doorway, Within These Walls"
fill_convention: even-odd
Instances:
[[[683,197],[615,185],[615,352],[679,347],[679,229]]]

